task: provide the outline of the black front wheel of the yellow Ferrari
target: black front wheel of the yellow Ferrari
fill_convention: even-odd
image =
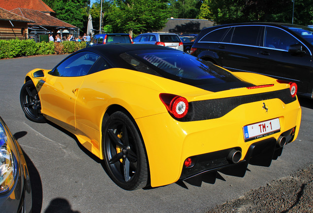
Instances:
[[[20,102],[25,116],[36,123],[45,123],[46,120],[41,114],[40,99],[35,85],[27,81],[21,89]]]

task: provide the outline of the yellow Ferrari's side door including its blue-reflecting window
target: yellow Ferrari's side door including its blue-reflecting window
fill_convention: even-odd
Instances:
[[[75,103],[79,88],[99,56],[85,51],[65,59],[46,76],[40,89],[41,112],[65,129],[76,129]]]

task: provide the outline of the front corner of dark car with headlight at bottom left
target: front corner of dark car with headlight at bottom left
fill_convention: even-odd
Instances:
[[[0,117],[0,212],[30,213],[31,181],[23,151]]]

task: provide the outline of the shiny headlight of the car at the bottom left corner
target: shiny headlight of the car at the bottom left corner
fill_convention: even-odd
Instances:
[[[0,123],[0,194],[12,188],[17,174],[17,159],[12,149],[15,150],[15,145],[10,138],[8,140],[7,132]]]

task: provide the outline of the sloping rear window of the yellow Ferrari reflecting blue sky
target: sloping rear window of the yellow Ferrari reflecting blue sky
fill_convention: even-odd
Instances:
[[[240,81],[230,72],[182,51],[136,51],[122,57],[138,71],[152,69],[158,75],[191,85]]]

